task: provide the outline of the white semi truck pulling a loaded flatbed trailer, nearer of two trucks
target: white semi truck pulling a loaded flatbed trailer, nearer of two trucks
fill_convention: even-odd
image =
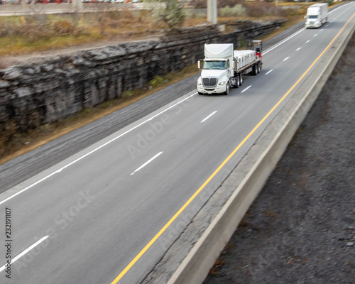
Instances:
[[[246,50],[234,50],[233,43],[204,45],[204,59],[198,60],[201,77],[199,94],[229,94],[243,84],[243,75],[257,75],[262,67],[261,40],[247,40]]]

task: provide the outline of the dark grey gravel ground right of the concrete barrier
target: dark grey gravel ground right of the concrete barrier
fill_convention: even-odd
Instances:
[[[355,37],[204,284],[355,283]]]

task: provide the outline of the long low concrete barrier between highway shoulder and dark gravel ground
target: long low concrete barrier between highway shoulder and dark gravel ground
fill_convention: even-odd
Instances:
[[[224,246],[229,241],[244,214],[258,195],[258,192],[262,189],[268,176],[283,155],[288,143],[293,138],[298,126],[305,119],[307,112],[332,74],[347,43],[349,43],[351,35],[354,33],[354,29],[355,21],[353,18],[344,28],[343,33],[334,41],[333,46],[335,48],[327,50],[310,77],[295,92],[294,97],[301,97],[300,102],[293,108],[292,114],[290,114],[288,120],[281,126],[271,143],[265,145],[263,150],[259,149],[260,155],[256,163],[253,164],[249,173],[246,174],[241,184],[236,187],[236,190],[229,197],[226,204],[224,204],[217,217],[209,224],[199,241],[193,246],[184,261],[182,261],[170,278],[169,284],[202,283],[204,278],[206,278],[209,269],[213,266],[214,261],[222,249],[224,249]],[[325,60],[325,58],[328,60]],[[293,101],[288,102],[283,109],[287,109],[287,106],[293,103]],[[280,111],[278,116],[283,116],[283,114],[285,114],[284,111]],[[263,136],[267,136],[268,130],[275,127],[273,123],[280,119],[278,116],[273,119],[266,131],[258,138],[258,141],[262,141]],[[241,162],[239,165],[241,164],[243,163]],[[240,173],[239,166],[234,169],[234,172]]]

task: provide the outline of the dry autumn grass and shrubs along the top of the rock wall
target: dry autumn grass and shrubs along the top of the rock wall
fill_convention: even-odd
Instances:
[[[146,5],[151,1],[147,0]],[[198,10],[206,8],[206,0],[188,1],[185,8],[175,0],[158,1],[158,8],[154,1],[151,10],[108,10],[114,4],[98,3],[97,13],[49,15],[33,10],[21,16],[0,17],[0,53],[23,55],[105,40],[133,40],[165,28],[207,23],[205,13]],[[310,4],[287,2],[275,6],[268,1],[219,0],[219,21],[299,21]]]

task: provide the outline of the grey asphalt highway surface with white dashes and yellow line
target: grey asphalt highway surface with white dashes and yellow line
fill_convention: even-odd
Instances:
[[[261,73],[228,96],[182,92],[1,193],[1,231],[6,222],[11,231],[2,234],[0,283],[143,280],[184,229],[170,223],[189,222],[354,13],[355,3],[340,6],[321,28],[268,48]]]

